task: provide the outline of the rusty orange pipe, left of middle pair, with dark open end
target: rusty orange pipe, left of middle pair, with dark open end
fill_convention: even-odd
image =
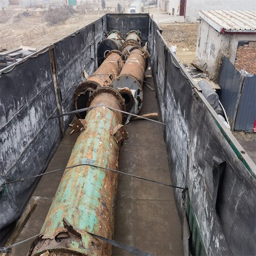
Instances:
[[[119,51],[108,53],[105,61],[98,69],[89,76],[87,81],[82,82],[75,90],[73,106],[75,109],[85,108],[88,105],[90,95],[96,88],[109,86],[118,76],[124,65],[122,54]],[[85,118],[85,112],[78,113],[78,118]]]

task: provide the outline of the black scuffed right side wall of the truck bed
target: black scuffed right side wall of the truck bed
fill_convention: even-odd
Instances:
[[[185,198],[207,255],[255,255],[256,166],[195,87],[154,22],[149,47],[172,184]],[[223,172],[222,172],[223,171]],[[184,215],[184,196],[175,189]],[[194,226],[191,227],[194,229]],[[198,245],[192,237],[191,244]]]

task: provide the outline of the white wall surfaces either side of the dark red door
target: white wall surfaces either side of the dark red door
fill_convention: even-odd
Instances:
[[[170,2],[169,13],[171,13],[172,8],[175,10],[180,5],[179,0],[173,0]],[[247,0],[244,1],[237,1],[237,0],[187,0],[186,5],[186,17],[189,18],[191,21],[195,21],[198,15],[199,10],[255,10],[256,9],[256,2],[255,0]]]

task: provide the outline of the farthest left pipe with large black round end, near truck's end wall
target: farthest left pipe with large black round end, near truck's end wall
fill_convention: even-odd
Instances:
[[[97,47],[98,65],[102,64],[107,54],[112,50],[121,50],[123,44],[122,34],[117,30],[107,33],[107,38],[99,42]]]

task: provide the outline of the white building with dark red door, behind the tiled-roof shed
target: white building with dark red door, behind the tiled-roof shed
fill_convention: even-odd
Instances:
[[[168,12],[195,21],[199,10],[256,10],[256,0],[170,0]]]

